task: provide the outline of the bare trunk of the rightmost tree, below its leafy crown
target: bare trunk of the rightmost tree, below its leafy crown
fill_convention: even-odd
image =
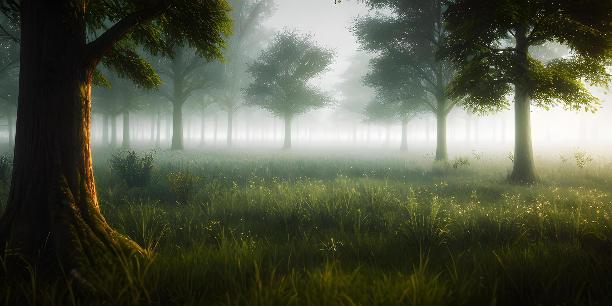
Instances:
[[[517,86],[514,97],[515,139],[514,165],[510,181],[532,183],[537,181],[535,162],[531,141],[531,113],[529,95],[525,89]]]

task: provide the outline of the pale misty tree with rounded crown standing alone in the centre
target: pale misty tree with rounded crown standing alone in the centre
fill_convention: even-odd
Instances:
[[[248,65],[253,83],[245,90],[245,103],[285,121],[284,149],[291,149],[293,119],[335,102],[329,92],[310,84],[330,70],[334,57],[335,50],[318,45],[313,34],[285,29]]]

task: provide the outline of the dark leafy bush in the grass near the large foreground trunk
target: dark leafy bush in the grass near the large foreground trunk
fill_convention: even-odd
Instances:
[[[111,156],[111,168],[108,171],[125,181],[128,188],[147,186],[157,170],[153,165],[155,152],[144,153],[144,156],[140,157],[133,151],[119,151]]]

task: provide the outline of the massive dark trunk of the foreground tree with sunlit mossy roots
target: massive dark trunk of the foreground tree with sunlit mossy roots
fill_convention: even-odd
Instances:
[[[19,111],[0,248],[51,266],[59,262],[84,285],[113,252],[141,249],[106,224],[97,203],[90,132],[94,67],[79,60],[84,25],[72,23],[61,1],[20,4]]]

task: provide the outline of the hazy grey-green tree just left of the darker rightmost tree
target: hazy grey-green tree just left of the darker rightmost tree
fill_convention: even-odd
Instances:
[[[383,100],[409,100],[427,107],[438,122],[436,160],[448,158],[446,118],[459,99],[448,99],[453,62],[436,58],[446,45],[444,0],[367,0],[371,9],[392,10],[358,17],[353,23],[357,42],[376,53],[365,83]]]

